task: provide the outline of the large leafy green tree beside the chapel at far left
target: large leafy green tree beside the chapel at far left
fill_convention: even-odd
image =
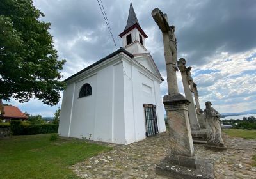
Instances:
[[[0,98],[20,102],[38,98],[44,104],[56,105],[65,82],[58,61],[49,22],[32,0],[0,1]]]

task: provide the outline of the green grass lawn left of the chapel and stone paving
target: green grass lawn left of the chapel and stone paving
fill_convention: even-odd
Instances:
[[[0,178],[78,178],[68,167],[111,150],[76,139],[50,141],[50,136],[12,136],[0,140]]]

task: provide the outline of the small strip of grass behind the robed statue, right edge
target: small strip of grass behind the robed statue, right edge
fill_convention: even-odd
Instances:
[[[244,139],[256,139],[256,130],[246,129],[224,129],[223,132],[231,137],[241,137]]]

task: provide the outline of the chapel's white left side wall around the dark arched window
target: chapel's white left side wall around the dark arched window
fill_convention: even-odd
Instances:
[[[122,62],[116,61],[67,84],[59,134],[125,144],[123,75]],[[78,98],[85,83],[92,86],[92,95]]]

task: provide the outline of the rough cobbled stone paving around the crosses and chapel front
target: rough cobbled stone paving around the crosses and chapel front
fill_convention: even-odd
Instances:
[[[252,155],[256,154],[256,140],[232,138],[223,134],[227,151],[205,150],[204,145],[194,144],[198,157],[215,161],[215,178],[256,178],[256,167],[252,167]],[[102,144],[102,143],[100,143]],[[148,137],[127,146],[113,146],[104,152],[72,166],[81,178],[165,178],[155,173],[155,166],[170,152],[168,133]]]

